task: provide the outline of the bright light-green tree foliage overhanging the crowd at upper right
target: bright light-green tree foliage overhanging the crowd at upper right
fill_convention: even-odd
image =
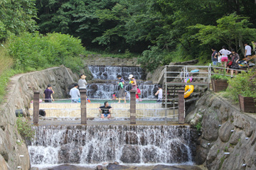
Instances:
[[[256,38],[256,29],[248,28],[250,23],[247,17],[231,13],[216,22],[217,26],[197,24],[190,27],[199,30],[194,38],[201,40],[201,45],[224,42],[230,49],[234,46],[237,52],[240,52],[240,47],[243,47],[241,42],[245,40],[250,42]]]

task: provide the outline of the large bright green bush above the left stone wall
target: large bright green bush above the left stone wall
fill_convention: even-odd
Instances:
[[[14,69],[23,72],[45,69],[64,64],[74,72],[82,68],[79,57],[85,48],[81,41],[70,35],[49,33],[23,33],[9,41],[9,54],[14,57]]]

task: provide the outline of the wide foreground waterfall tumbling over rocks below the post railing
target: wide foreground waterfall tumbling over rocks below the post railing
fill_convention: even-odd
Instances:
[[[38,126],[31,164],[178,164],[192,161],[186,125]]]

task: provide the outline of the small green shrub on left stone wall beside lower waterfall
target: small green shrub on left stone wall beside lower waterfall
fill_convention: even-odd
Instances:
[[[28,120],[23,121],[19,116],[16,120],[18,133],[25,140],[32,140],[35,135],[35,130],[32,130],[32,126],[28,123]]]

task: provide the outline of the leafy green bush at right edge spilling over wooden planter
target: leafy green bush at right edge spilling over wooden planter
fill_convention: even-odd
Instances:
[[[250,72],[242,72],[228,81],[227,94],[233,101],[238,102],[238,94],[245,97],[256,98],[256,73],[255,69]]]

